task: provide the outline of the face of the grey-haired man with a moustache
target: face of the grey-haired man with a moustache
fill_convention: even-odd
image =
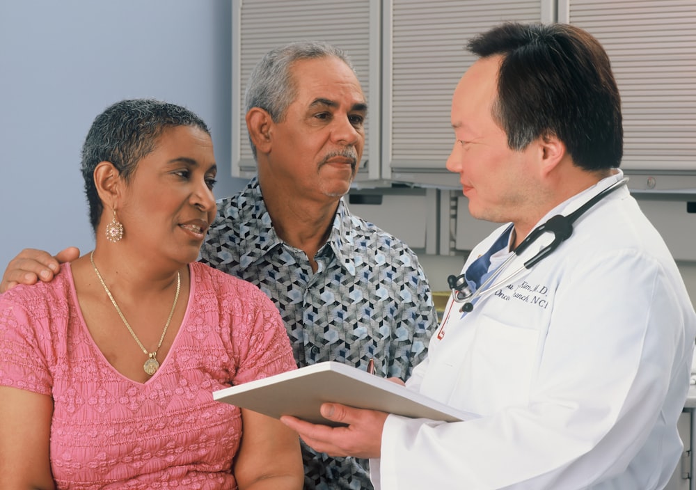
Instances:
[[[365,146],[365,95],[338,58],[296,61],[296,97],[271,125],[267,172],[303,196],[332,198],[349,191]]]

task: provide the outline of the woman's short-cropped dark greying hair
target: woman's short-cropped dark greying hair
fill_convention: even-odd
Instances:
[[[210,135],[201,118],[189,109],[153,99],[122,100],[104,109],[95,118],[82,146],[82,177],[93,230],[104,206],[94,183],[94,170],[102,161],[110,161],[127,182],[138,162],[155,150],[157,139],[166,129],[194,126]]]

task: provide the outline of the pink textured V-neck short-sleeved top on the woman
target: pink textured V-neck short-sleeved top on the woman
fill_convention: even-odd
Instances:
[[[198,262],[189,269],[181,329],[145,384],[97,349],[69,264],[51,283],[0,295],[0,385],[53,397],[59,489],[237,488],[241,414],[212,392],[296,365],[278,310],[257,287]]]

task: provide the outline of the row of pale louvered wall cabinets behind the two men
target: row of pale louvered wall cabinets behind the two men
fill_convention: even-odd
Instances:
[[[232,0],[232,175],[255,173],[243,104],[253,65],[272,47],[315,39],[345,49],[365,90],[356,182],[455,189],[445,160],[452,93],[474,60],[466,42],[504,21],[555,20],[590,31],[612,60],[629,187],[696,192],[693,0]]]

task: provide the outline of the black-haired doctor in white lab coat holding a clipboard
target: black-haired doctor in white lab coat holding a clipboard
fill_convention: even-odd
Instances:
[[[369,457],[377,489],[661,489],[682,451],[696,314],[622,185],[608,57],[564,24],[504,24],[468,47],[480,58],[454,92],[447,166],[473,216],[507,224],[470,254],[474,297],[450,298],[406,384],[480,417],[325,404],[348,426],[281,420],[319,451]],[[588,202],[557,248],[521,267],[555,237],[514,255],[532,230]]]

